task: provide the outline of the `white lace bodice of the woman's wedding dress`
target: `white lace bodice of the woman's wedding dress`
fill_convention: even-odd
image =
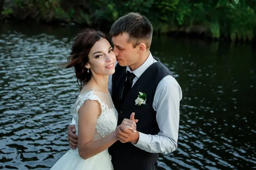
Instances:
[[[118,113],[113,105],[111,95],[109,93],[105,94],[94,89],[84,91],[79,94],[76,103],[70,109],[70,113],[76,121],[76,134],[79,130],[78,111],[87,99],[97,100],[101,105],[102,111],[97,119],[96,130],[93,137],[93,140],[98,140],[116,130]]]

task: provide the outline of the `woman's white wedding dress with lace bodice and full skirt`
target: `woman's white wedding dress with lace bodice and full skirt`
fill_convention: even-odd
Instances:
[[[104,138],[106,135],[116,130],[118,113],[109,93],[105,94],[94,89],[82,92],[79,94],[76,103],[70,109],[70,113],[76,121],[76,135],[79,130],[78,111],[87,99],[97,100],[101,104],[102,109],[97,119],[96,129],[93,136],[94,141]],[[75,150],[70,149],[65,153],[64,156],[53,165],[51,170],[113,170],[113,165],[108,149],[84,160],[79,156],[78,148],[76,148]]]

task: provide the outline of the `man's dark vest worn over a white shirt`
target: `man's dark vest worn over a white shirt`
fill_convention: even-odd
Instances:
[[[146,71],[133,85],[124,101],[121,100],[122,89],[126,79],[126,67],[116,65],[116,71],[112,77],[112,99],[116,110],[118,111],[118,125],[123,119],[130,119],[132,112],[135,113],[137,130],[141,133],[156,135],[159,133],[159,127],[156,120],[156,111],[152,104],[154,94],[159,82],[167,75],[172,73],[161,62],[155,62],[150,65]],[[135,105],[139,92],[147,95],[147,105]],[[112,156],[114,170],[143,170],[151,167],[158,159],[158,153],[149,153],[135,147],[131,142],[115,142],[108,149]],[[133,166],[130,166],[130,165]]]

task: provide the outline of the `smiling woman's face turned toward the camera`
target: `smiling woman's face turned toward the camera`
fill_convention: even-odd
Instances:
[[[97,41],[88,54],[89,62],[85,65],[92,74],[111,75],[115,72],[116,56],[105,38]]]

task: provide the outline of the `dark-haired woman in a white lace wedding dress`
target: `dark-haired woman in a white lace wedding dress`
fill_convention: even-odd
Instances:
[[[115,61],[102,32],[87,29],[75,38],[66,68],[73,67],[80,81],[81,92],[70,109],[78,148],[65,153],[51,170],[113,170],[108,147],[118,140],[118,115],[108,92],[108,76],[115,72]]]

